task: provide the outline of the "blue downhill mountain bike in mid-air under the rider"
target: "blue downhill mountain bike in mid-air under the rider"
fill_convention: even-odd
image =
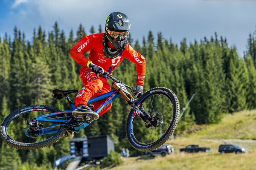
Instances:
[[[107,72],[101,76],[111,79],[115,90],[89,100],[88,104],[105,99],[95,112],[100,114],[114,99],[122,96],[131,106],[126,125],[131,145],[136,150],[151,151],[164,144],[173,134],[179,119],[180,104],[175,93],[168,88],[156,87],[136,99],[133,97],[137,93],[135,88]],[[56,99],[66,97],[72,109],[60,111],[47,105],[18,109],[2,122],[0,136],[4,142],[17,149],[38,149],[57,142],[67,131],[79,132],[90,125],[91,122],[77,121],[72,116],[75,106],[69,94],[77,90],[55,89],[52,92]]]

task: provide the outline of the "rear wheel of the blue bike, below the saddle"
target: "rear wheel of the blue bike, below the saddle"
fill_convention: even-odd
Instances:
[[[22,150],[38,149],[57,142],[65,129],[58,122],[39,122],[34,118],[59,110],[47,105],[34,105],[9,114],[0,127],[4,142]],[[64,119],[64,115],[48,116],[47,119]],[[65,116],[64,116],[65,117]]]

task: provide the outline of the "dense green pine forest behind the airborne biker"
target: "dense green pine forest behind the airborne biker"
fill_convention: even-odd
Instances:
[[[56,22],[48,33],[41,27],[35,29],[31,42],[17,27],[14,35],[0,37],[0,121],[12,111],[29,105],[70,109],[66,99],[53,98],[52,90],[83,88],[79,77],[81,65],[70,57],[70,49],[82,37],[102,31],[99,25],[99,29],[92,26],[87,33],[80,25],[76,32],[71,30],[66,37]],[[180,44],[175,44],[161,32],[154,37],[149,31],[142,42],[133,40],[131,34],[129,43],[146,59],[144,91],[157,86],[169,88],[178,96],[181,108],[185,108],[195,94],[175,135],[192,125],[218,124],[224,114],[256,108],[255,34],[249,34],[243,56],[239,56],[236,47],[227,44],[226,38],[217,33],[194,42],[183,39]],[[88,54],[85,53],[85,57]],[[127,59],[113,75],[127,85],[136,86],[136,65]],[[70,95],[72,99],[75,96]],[[129,111],[130,106],[125,100],[116,99],[108,113],[76,133],[75,137],[108,134],[115,140],[117,151],[122,147],[131,148],[125,134]],[[0,140],[0,167],[48,170],[55,159],[69,152],[69,139],[64,137],[50,147],[29,151],[16,150]]]

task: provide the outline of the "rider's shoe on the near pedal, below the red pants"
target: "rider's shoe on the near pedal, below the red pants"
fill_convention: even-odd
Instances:
[[[78,105],[73,110],[72,115],[76,118],[82,118],[87,122],[99,119],[99,114],[91,110],[87,105]]]

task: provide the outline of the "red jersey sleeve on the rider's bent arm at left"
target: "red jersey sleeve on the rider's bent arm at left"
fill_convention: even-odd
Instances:
[[[96,47],[96,45],[98,45],[99,43],[100,43],[99,35],[93,34],[93,35],[86,36],[81,40],[79,40],[79,42],[77,42],[71,48],[70,56],[78,64],[86,66],[89,59],[87,59],[84,56],[84,53],[86,53],[87,51],[90,51],[91,49]]]

